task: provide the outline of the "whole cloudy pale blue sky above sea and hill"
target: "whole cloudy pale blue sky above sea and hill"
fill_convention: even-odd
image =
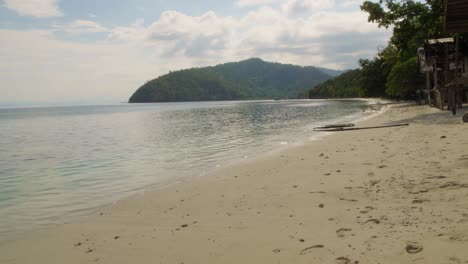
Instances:
[[[258,57],[358,67],[391,32],[361,0],[0,0],[0,103],[127,101],[169,71]]]

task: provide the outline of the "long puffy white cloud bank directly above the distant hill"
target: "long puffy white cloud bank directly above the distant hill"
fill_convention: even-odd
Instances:
[[[177,57],[197,63],[194,66],[262,57],[349,68],[357,64],[357,59],[340,62],[339,54],[367,57],[363,46],[372,46],[370,50],[375,53],[389,36],[388,31],[368,23],[366,14],[359,11],[324,10],[306,17],[291,17],[284,10],[261,7],[240,18],[219,16],[212,11],[201,16],[165,11],[149,26],[139,23],[111,29],[108,40],[138,43],[163,60]],[[347,45],[332,45],[329,39]]]

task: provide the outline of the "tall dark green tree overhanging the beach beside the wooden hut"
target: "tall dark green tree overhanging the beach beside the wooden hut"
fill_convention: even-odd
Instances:
[[[369,14],[369,22],[375,22],[379,27],[393,27],[388,47],[374,60],[361,60],[367,89],[381,91],[380,88],[385,87],[389,96],[410,96],[421,83],[417,48],[429,38],[444,36],[445,1],[365,1],[361,10]],[[376,69],[379,64],[380,71]]]

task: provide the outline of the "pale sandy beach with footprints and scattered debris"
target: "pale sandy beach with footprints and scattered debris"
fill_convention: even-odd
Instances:
[[[463,109],[461,112],[466,112]],[[468,263],[468,124],[395,104],[0,245],[0,263]]]

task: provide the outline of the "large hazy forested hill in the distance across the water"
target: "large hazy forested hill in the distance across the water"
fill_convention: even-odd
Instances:
[[[145,83],[130,103],[298,98],[330,79],[323,69],[252,58],[171,72]]]

